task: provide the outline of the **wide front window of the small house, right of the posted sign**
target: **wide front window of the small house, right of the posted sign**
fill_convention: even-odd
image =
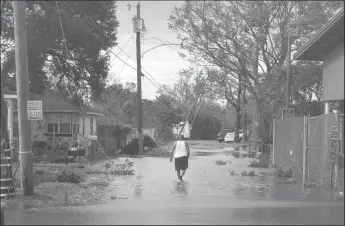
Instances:
[[[68,113],[47,113],[47,133],[70,134],[71,115]]]

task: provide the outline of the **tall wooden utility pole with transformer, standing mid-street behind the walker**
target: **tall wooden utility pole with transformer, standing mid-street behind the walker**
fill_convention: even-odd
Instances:
[[[137,33],[137,102],[138,102],[138,143],[139,153],[143,151],[143,115],[142,115],[142,99],[141,99],[141,51],[140,51],[140,2],[137,4],[137,17],[136,17],[136,33]]]

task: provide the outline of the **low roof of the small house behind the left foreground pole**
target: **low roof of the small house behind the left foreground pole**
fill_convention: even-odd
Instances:
[[[5,87],[4,94],[16,95],[17,93]],[[42,100],[42,108],[44,112],[82,112],[79,105],[69,103],[55,91],[48,90],[44,95],[30,93],[29,96],[30,100]],[[83,112],[85,114],[101,115],[98,110],[88,106],[83,106]]]

